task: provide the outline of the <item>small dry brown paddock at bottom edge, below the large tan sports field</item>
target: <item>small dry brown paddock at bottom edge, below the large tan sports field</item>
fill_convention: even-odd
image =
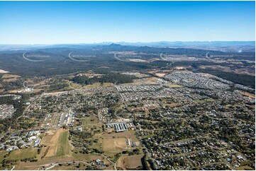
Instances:
[[[143,166],[141,158],[143,158],[143,155],[123,155],[118,159],[116,167],[120,167],[123,170],[134,170]]]

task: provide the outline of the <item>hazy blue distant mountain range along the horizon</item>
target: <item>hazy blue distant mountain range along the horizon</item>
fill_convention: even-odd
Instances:
[[[223,52],[255,52],[255,41],[213,41],[213,42],[100,42],[81,44],[60,44],[60,45],[0,45],[1,51],[6,50],[29,50],[44,49],[52,47],[78,48],[95,46],[149,46],[149,47],[172,47],[189,49],[218,50]]]

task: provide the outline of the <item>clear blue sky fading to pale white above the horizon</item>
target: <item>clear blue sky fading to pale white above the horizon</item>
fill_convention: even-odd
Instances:
[[[0,1],[0,44],[255,41],[255,1]]]

